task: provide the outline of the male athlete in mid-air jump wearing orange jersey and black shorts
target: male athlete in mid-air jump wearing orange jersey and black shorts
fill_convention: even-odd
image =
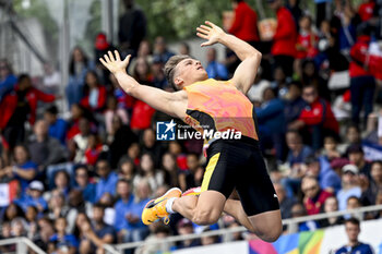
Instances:
[[[259,149],[253,106],[246,97],[256,75],[261,53],[211,22],[196,31],[199,37],[207,40],[202,47],[220,43],[242,61],[231,80],[208,78],[200,61],[175,56],[166,63],[165,73],[177,92],[168,93],[141,85],[129,76],[126,68],[130,56],[122,61],[117,51],[115,56],[109,51],[99,59],[126,93],[153,108],[194,128],[206,125],[220,132],[234,129],[242,134],[241,140],[206,141],[207,167],[200,195],[182,196],[179,189],[171,189],[147,203],[142,221],[150,225],[179,213],[198,225],[211,225],[225,211],[262,240],[276,241],[282,233],[278,199]],[[234,190],[240,201],[228,198]]]

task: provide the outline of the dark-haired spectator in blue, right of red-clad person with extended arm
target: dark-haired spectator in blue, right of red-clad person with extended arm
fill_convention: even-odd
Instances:
[[[58,109],[56,106],[50,106],[45,110],[44,120],[49,125],[49,136],[57,138],[62,145],[64,145],[68,123],[65,120],[58,117]]]

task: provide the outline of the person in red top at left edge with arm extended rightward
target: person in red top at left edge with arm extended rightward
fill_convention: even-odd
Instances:
[[[0,130],[3,135],[3,146],[13,149],[19,142],[24,141],[25,121],[33,125],[36,120],[37,102],[51,102],[57,97],[45,94],[32,85],[29,75],[22,74],[15,88],[0,102]]]

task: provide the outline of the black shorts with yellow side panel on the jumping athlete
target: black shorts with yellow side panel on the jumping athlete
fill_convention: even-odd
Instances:
[[[279,209],[259,144],[252,138],[218,140],[207,148],[201,191],[217,191],[228,198],[234,189],[248,216]]]

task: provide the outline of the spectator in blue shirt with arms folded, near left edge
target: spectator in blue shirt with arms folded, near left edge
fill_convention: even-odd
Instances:
[[[21,191],[24,192],[28,183],[37,176],[37,165],[29,159],[29,153],[24,145],[14,147],[13,157],[15,164],[7,167],[5,172],[10,178],[19,180]]]

